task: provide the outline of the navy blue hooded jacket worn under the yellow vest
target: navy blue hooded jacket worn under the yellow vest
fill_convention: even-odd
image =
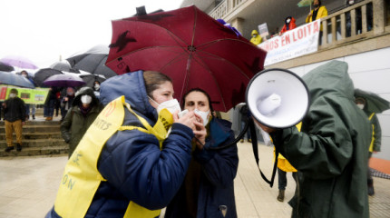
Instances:
[[[102,104],[124,95],[137,114],[151,126],[157,112],[146,95],[142,71],[114,76],[101,86]],[[141,126],[125,108],[123,125]],[[152,134],[138,130],[113,134],[102,149],[98,170],[102,182],[85,217],[123,217],[130,201],[150,210],[171,202],[183,182],[190,163],[190,142],[194,134],[182,124],[173,124],[171,134],[159,148]],[[55,208],[54,208],[55,210]],[[52,210],[46,217],[58,217]]]

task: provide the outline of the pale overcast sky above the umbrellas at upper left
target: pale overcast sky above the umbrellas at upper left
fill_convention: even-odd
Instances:
[[[180,7],[181,0],[5,0],[0,13],[0,58],[13,54],[48,67],[94,45],[109,45],[111,21]]]

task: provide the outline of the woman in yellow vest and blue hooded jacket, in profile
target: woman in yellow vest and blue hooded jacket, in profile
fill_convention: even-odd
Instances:
[[[105,107],[66,164],[46,217],[158,217],[183,182],[201,125],[193,112],[179,118],[172,96],[171,79],[157,72],[102,83]]]

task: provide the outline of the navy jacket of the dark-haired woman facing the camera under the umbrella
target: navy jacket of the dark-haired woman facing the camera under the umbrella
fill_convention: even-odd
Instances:
[[[210,134],[206,138],[205,147],[230,144],[234,140],[234,133],[230,127],[229,121],[213,118],[208,126]],[[237,144],[217,151],[196,149],[193,160],[200,164],[199,187],[194,187],[191,180],[186,179],[189,183],[183,183],[179,193],[168,205],[165,217],[191,217],[190,209],[187,208],[189,196],[186,196],[188,193],[186,190],[196,188],[199,188],[196,212],[198,218],[222,218],[224,216],[220,207],[223,206],[227,208],[225,218],[237,217],[233,183],[239,166],[237,150]],[[192,165],[189,172],[191,168]]]

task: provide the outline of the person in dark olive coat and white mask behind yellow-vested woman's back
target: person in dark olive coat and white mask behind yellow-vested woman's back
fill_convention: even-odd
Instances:
[[[65,143],[69,144],[69,157],[72,156],[77,144],[102,111],[102,104],[93,94],[93,89],[83,87],[75,94],[72,108],[66,113],[61,123],[61,134]]]

